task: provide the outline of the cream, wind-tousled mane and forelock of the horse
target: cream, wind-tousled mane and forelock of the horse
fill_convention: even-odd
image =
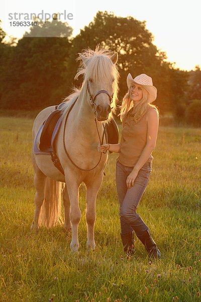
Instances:
[[[118,80],[119,80],[119,72],[117,66],[113,64],[110,57],[113,53],[106,49],[100,49],[96,47],[95,50],[86,49],[81,55],[84,57],[83,60],[78,57],[77,60],[80,61],[80,66],[75,75],[75,79],[79,77],[79,75],[84,75],[84,80],[81,88],[73,88],[73,92],[65,98],[64,105],[62,107],[63,114],[65,115],[68,111],[71,104],[74,100],[79,96],[80,91],[84,87],[85,81],[87,79],[93,79],[94,81],[101,81],[101,79],[109,79],[110,82],[114,81],[113,84],[113,103],[112,103],[112,111],[109,115],[108,121],[112,118],[113,114],[117,109],[117,95],[118,95]],[[112,73],[111,73],[112,68]],[[103,88],[104,89],[104,88]],[[87,92],[86,92],[87,93]]]

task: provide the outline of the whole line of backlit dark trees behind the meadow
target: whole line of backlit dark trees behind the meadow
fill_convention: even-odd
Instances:
[[[161,114],[168,111],[183,119],[193,107],[188,119],[197,120],[196,114],[201,116],[200,67],[191,72],[175,68],[153,44],[153,35],[145,22],[97,12],[94,20],[75,37],[73,29],[57,18],[37,22],[39,25],[25,33],[17,45],[15,41],[4,43],[6,33],[0,24],[1,109],[35,110],[59,104],[83,80],[74,80],[78,52],[99,44],[118,52],[120,104],[127,91],[128,72],[133,77],[146,73],[158,89],[155,104]]]

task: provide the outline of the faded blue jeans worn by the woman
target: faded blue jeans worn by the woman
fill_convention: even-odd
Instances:
[[[131,189],[128,189],[126,180],[128,175],[132,172],[133,167],[124,166],[117,161],[116,183],[120,203],[120,222],[122,234],[127,234],[134,230],[137,237],[140,238],[143,236],[144,232],[148,230],[148,226],[144,223],[136,210],[148,185],[151,167],[151,163],[146,163],[138,172],[134,186],[131,187]]]

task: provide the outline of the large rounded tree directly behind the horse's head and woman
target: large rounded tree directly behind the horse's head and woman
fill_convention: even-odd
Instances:
[[[131,72],[135,77],[147,73],[158,89],[155,102],[161,111],[174,109],[175,99],[182,96],[181,82],[185,82],[183,73],[173,69],[166,62],[166,54],[152,43],[153,35],[146,29],[146,23],[132,17],[116,17],[113,13],[97,12],[93,22],[85,26],[73,40],[69,56],[66,60],[64,77],[69,79],[69,87],[80,85],[74,81],[78,68],[76,57],[82,49],[95,48],[97,44],[103,48],[117,51],[119,55],[120,96],[122,100],[128,90],[126,77]],[[174,79],[174,80],[173,80]],[[173,85],[173,86],[172,86]]]

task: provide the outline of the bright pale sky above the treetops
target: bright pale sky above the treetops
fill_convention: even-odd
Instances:
[[[200,0],[74,0],[67,2],[57,0],[16,1],[4,0],[1,8],[0,20],[8,35],[22,37],[27,27],[13,27],[10,25],[9,14],[14,13],[68,13],[73,14],[72,20],[66,20],[74,29],[73,35],[79,29],[87,26],[97,11],[114,12],[116,16],[146,21],[146,28],[154,35],[154,44],[165,51],[170,62],[175,67],[191,70],[195,65],[201,66],[201,1]],[[22,21],[24,21],[22,19]],[[87,47],[87,45],[86,45]],[[81,49],[80,49],[81,51]]]

